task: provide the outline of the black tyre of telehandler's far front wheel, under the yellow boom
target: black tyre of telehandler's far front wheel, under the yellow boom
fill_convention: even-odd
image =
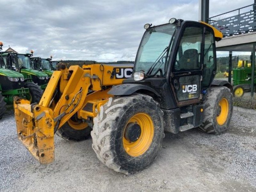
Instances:
[[[80,122],[80,124],[84,124],[84,129],[74,129],[66,122],[56,131],[56,134],[62,139],[71,141],[82,141],[90,138],[92,128],[86,123]]]

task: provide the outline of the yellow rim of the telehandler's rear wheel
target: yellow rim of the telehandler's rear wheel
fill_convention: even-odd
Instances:
[[[229,104],[226,98],[222,98],[219,102],[219,113],[217,114],[217,123],[223,125],[228,118]]]

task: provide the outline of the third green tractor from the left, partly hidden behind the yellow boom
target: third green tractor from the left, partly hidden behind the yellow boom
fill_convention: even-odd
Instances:
[[[33,61],[34,69],[46,73],[49,78],[52,76],[53,70],[50,63],[50,61],[52,60],[52,56],[51,58],[46,59],[42,59],[41,57],[32,57],[31,59]]]

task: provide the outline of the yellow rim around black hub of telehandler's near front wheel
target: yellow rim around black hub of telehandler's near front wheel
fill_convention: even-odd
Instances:
[[[141,133],[138,140],[134,142],[125,139],[123,134],[124,150],[130,156],[137,157],[144,154],[151,145],[154,136],[154,124],[152,118],[146,113],[138,113],[132,116],[125,128],[127,128],[129,123],[138,124]]]

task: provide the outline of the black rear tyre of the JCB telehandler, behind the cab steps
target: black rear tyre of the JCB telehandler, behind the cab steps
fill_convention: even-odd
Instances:
[[[221,101],[221,102],[220,102]],[[221,109],[221,103],[228,103],[228,106]],[[221,115],[221,111],[225,114],[227,111],[227,116],[224,118],[223,123],[218,123],[217,117]],[[208,95],[204,101],[204,119],[203,123],[199,126],[199,130],[212,133],[220,134],[228,129],[228,125],[231,121],[233,112],[233,95],[230,89],[224,86],[210,87]],[[224,115],[223,114],[223,115]],[[224,115],[225,116],[225,115]]]

